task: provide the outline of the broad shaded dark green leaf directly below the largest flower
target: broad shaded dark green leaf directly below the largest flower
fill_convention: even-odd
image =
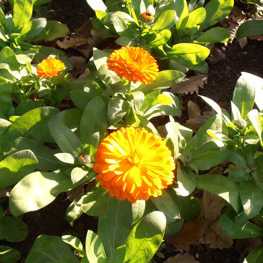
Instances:
[[[99,217],[98,235],[102,240],[107,258],[114,249],[123,245],[132,229],[131,203],[111,197],[107,214]]]

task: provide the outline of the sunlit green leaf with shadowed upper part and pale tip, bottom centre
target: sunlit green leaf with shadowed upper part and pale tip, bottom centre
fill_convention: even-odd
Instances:
[[[124,263],[148,263],[161,244],[165,226],[166,219],[160,211],[143,217],[126,240]]]

